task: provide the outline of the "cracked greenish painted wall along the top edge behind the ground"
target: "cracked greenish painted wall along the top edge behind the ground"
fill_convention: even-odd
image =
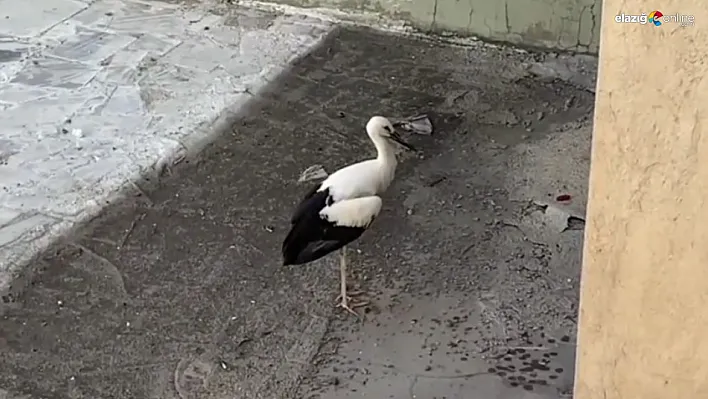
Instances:
[[[273,1],[273,0],[271,0]],[[274,0],[376,12],[436,33],[597,54],[602,0]]]

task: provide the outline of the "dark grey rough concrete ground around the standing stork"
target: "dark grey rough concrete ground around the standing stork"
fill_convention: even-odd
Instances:
[[[0,397],[570,397],[593,94],[531,72],[556,62],[337,31],[33,265],[1,305]],[[295,181],[419,112],[436,133],[352,246],[358,321],[336,257],[281,266]]]

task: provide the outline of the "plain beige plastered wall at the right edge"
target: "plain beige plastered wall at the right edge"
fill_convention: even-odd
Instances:
[[[708,1],[605,0],[576,399],[708,398]]]

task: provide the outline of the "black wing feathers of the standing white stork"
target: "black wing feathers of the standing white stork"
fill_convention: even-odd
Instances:
[[[283,264],[300,265],[334,252],[361,236],[365,228],[336,226],[320,217],[332,204],[329,189],[312,189],[298,205],[291,219],[290,232],[283,241]]]

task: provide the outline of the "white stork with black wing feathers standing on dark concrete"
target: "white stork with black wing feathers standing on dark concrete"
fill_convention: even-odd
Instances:
[[[354,315],[357,313],[353,309],[367,302],[349,302],[346,245],[359,238],[381,211],[379,195],[386,191],[396,172],[392,141],[415,151],[382,116],[369,120],[366,133],[378,152],[376,159],[342,168],[312,187],[295,209],[290,232],[283,241],[286,266],[309,263],[341,248],[342,300],[338,306]],[[360,292],[349,293],[357,294]]]

